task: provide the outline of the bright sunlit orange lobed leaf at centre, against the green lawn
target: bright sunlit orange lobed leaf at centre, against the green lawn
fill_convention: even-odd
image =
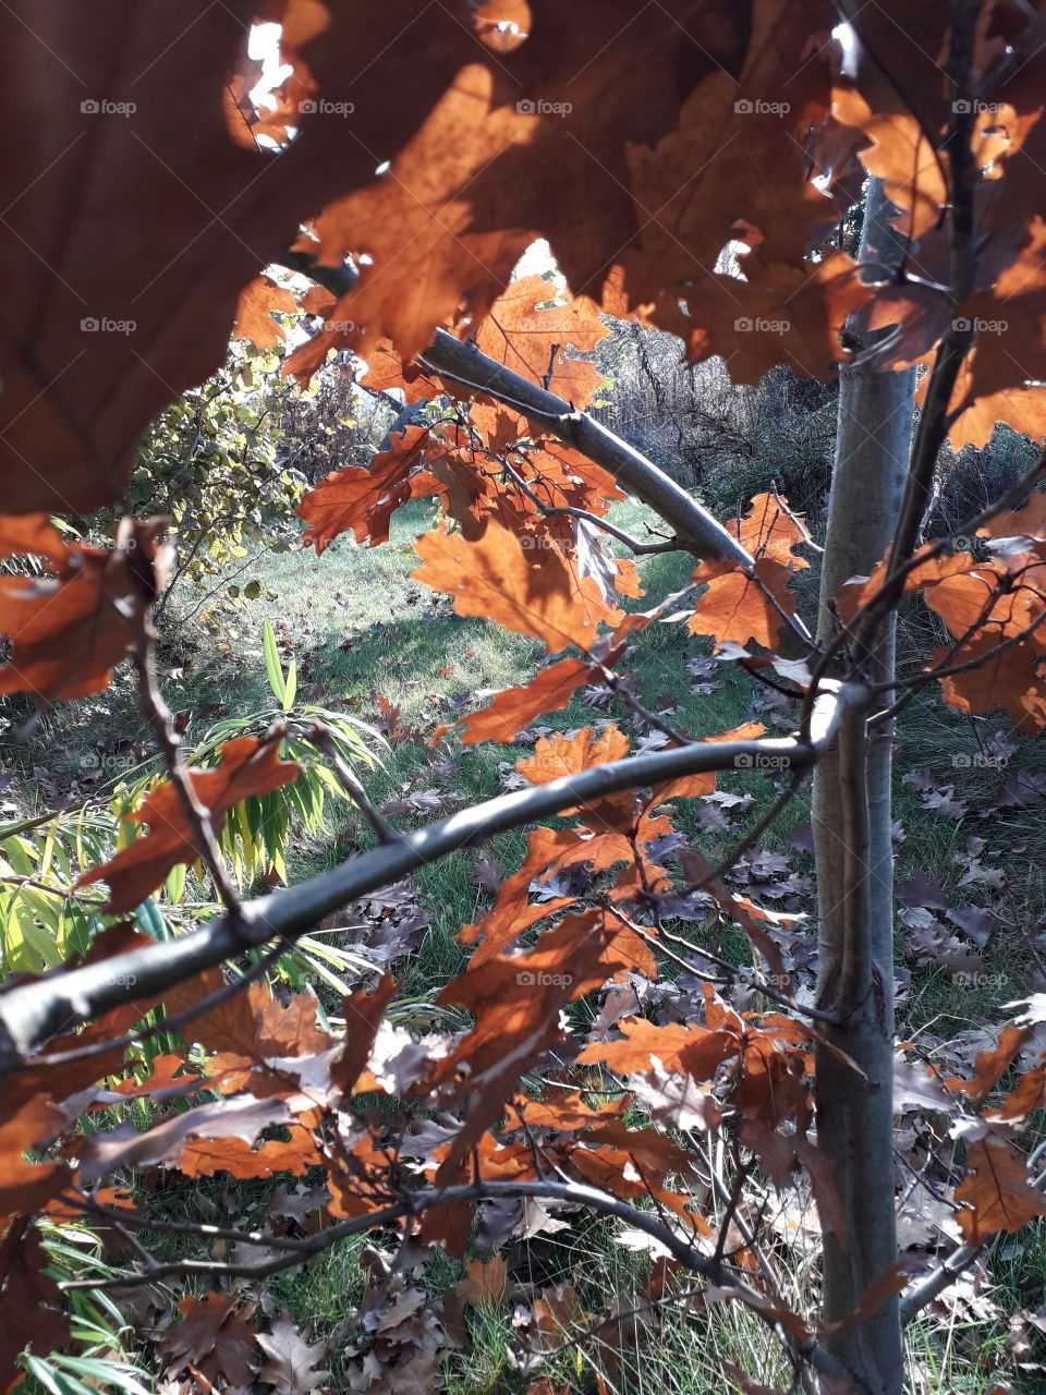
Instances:
[[[494,520],[476,543],[439,529],[423,534],[414,551],[423,565],[411,578],[453,596],[459,615],[497,621],[540,639],[551,653],[568,644],[589,649],[600,624],[623,618],[591,576],[577,576],[569,558],[552,550],[536,555]]]

